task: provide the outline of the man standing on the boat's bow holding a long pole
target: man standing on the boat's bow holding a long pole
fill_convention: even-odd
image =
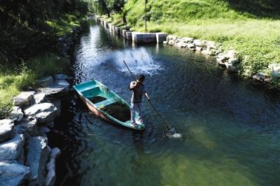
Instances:
[[[137,78],[137,81],[132,81],[130,83],[130,90],[132,90],[132,98],[131,98],[131,122],[136,127],[137,124],[135,122],[135,112],[138,111],[140,122],[143,123],[142,113],[141,113],[141,102],[143,94],[146,95],[147,99],[150,99],[145,88],[144,88],[144,80],[145,76],[140,75]]]

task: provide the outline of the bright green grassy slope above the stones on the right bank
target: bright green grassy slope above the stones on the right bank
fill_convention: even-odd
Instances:
[[[239,74],[251,77],[267,73],[268,64],[280,64],[279,6],[276,0],[148,1],[148,31],[223,43],[224,50],[237,50]],[[128,1],[123,14],[132,30],[145,31],[144,1]],[[113,15],[111,22],[122,26],[122,15]]]

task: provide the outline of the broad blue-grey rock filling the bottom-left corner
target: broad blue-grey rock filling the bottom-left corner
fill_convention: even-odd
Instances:
[[[0,162],[0,185],[24,185],[28,176],[28,166]]]

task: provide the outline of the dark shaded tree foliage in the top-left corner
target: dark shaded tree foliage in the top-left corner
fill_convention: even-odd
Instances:
[[[54,43],[56,36],[48,21],[85,13],[87,2],[81,0],[0,1],[1,62],[19,62]]]

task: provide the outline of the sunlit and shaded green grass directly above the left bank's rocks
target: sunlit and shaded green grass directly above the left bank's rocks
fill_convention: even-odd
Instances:
[[[0,71],[0,119],[10,113],[13,97],[20,91],[28,90],[29,86],[35,87],[36,80],[39,78],[65,73],[66,69],[69,69],[68,60],[53,54],[29,59],[15,71],[2,69]]]

